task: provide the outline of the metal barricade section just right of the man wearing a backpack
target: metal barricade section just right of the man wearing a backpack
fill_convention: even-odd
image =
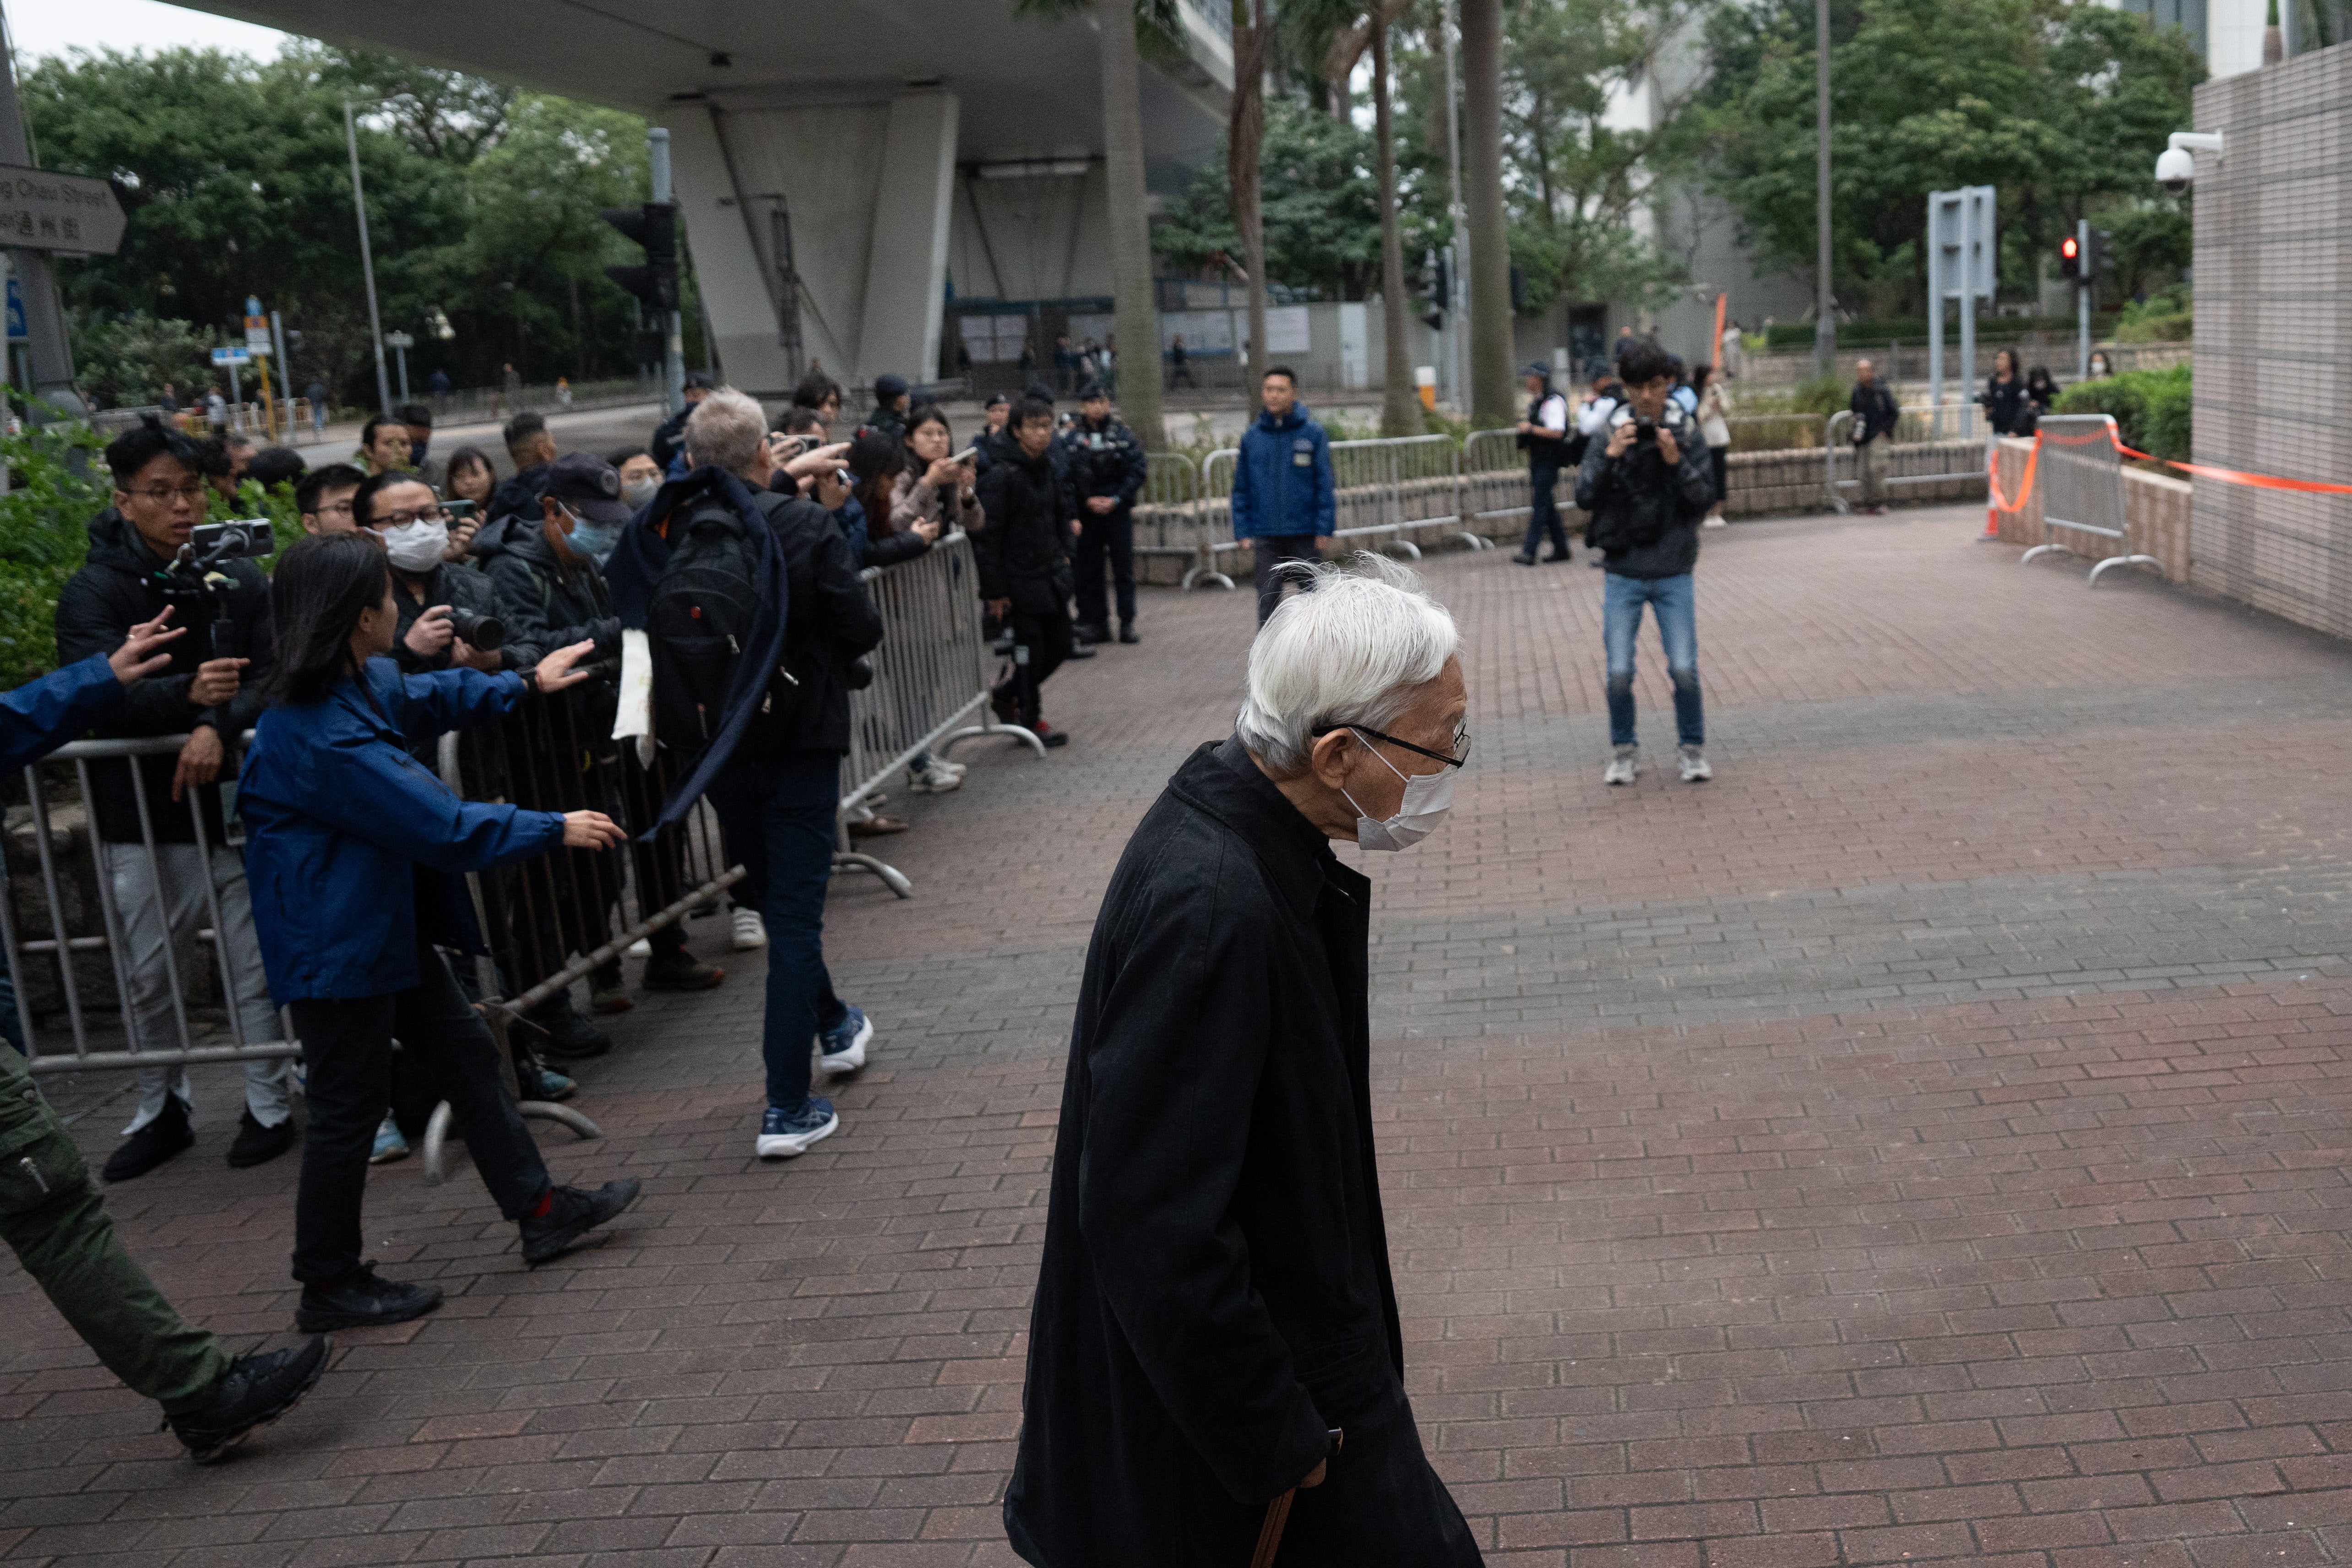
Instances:
[[[1044,741],[1004,724],[988,708],[990,646],[981,625],[981,571],[971,538],[948,534],[910,562],[858,574],[882,614],[882,646],[868,654],[873,682],[849,693],[849,755],[842,757],[842,827],[833,865],[882,879],[898,898],[915,889],[898,867],[849,849],[847,818],[922,752],[957,741],[1011,736],[1044,757]],[[978,717],[978,722],[969,722]]]

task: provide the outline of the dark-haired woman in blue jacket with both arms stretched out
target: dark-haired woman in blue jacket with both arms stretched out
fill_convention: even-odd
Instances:
[[[308,1063],[310,1131],[294,1199],[294,1321],[310,1331],[405,1324],[442,1288],[381,1279],[360,1260],[367,1157],[390,1100],[393,1037],[456,1112],[475,1171],[520,1222],[529,1265],[569,1251],[637,1197],[635,1180],[557,1187],[506,1086],[489,1025],[435,945],[480,952],[463,872],[557,846],[621,839],[597,811],[459,799],[407,745],[492,724],[583,679],[593,644],[532,675],[402,675],[388,658],[400,607],[372,534],[296,543],[270,583],[278,665],[238,778],[245,865],[270,997],[292,1009]]]

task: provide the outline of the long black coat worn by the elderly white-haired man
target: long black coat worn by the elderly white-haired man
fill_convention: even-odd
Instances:
[[[1129,839],[1070,1032],[1004,1495],[1030,1563],[1247,1563],[1329,1427],[1350,1434],[1334,1481],[1371,1479],[1383,1427],[1409,1448],[1350,1516],[1409,1509],[1406,1530],[1442,1523],[1461,1547],[1395,1561],[1477,1561],[1402,1403],[1369,891],[1240,741],[1195,750]],[[1319,1490],[1298,1495],[1284,1563],[1350,1561],[1308,1516]]]

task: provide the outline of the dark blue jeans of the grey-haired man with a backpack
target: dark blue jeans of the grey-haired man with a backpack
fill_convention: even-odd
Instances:
[[[809,1051],[849,1009],[826,971],[826,884],[833,879],[842,759],[786,752],[739,759],[710,780],[727,853],[743,865],[734,900],[767,922],[767,1103],[797,1110],[809,1098]]]

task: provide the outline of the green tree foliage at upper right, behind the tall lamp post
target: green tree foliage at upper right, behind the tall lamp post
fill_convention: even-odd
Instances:
[[[1759,266],[1813,263],[1813,7],[1724,7],[1693,132]],[[2201,66],[2178,31],[2098,0],[1835,0],[1832,266],[1842,303],[1926,306],[1926,193],[1999,190],[2002,292],[2032,296],[2079,216],[2161,247],[2178,221],[2150,148],[2190,122]],[[2119,256],[2124,268],[2136,256]]]

